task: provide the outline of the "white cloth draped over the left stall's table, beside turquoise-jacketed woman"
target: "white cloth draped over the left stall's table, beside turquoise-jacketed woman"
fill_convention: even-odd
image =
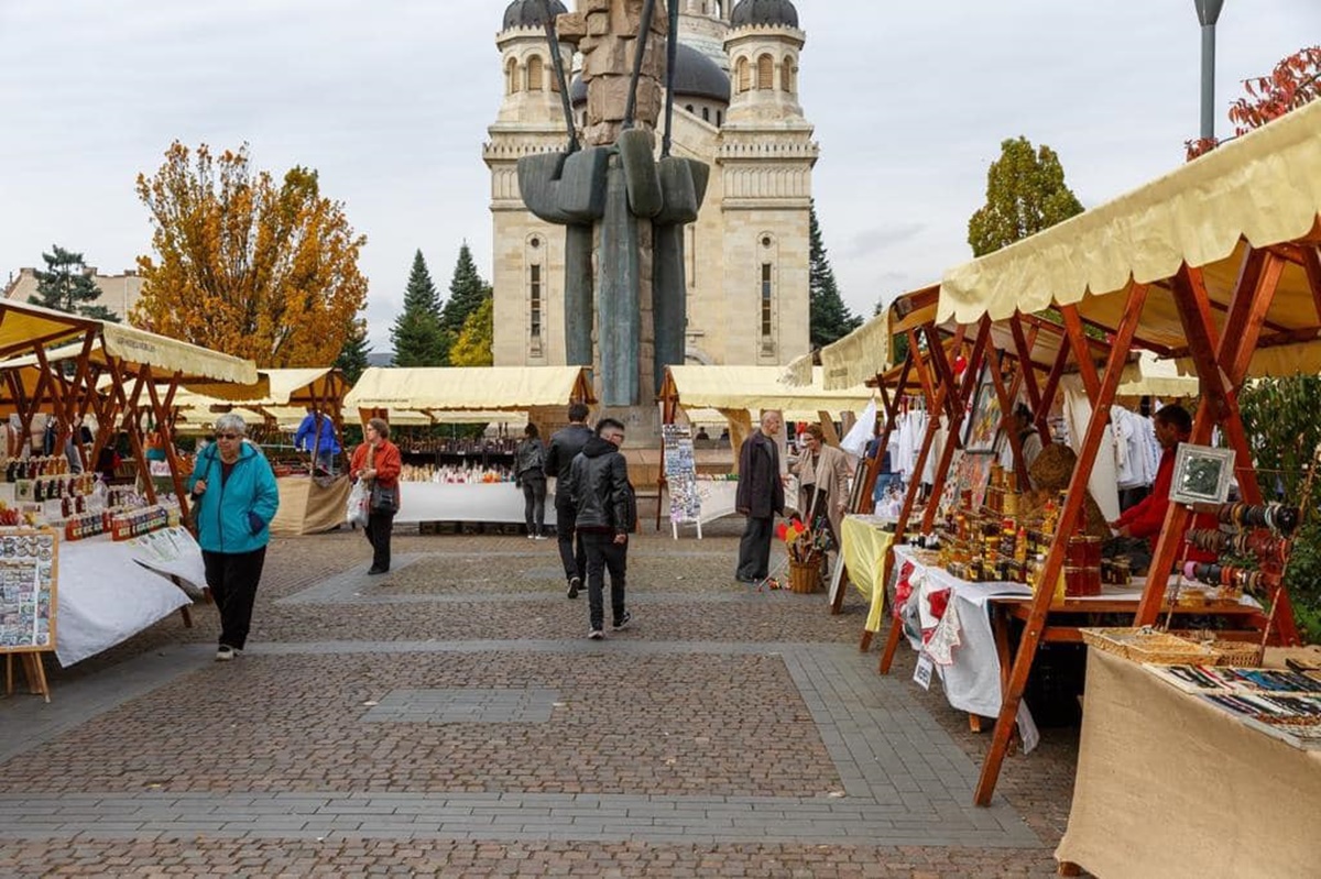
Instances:
[[[66,668],[192,603],[170,577],[197,595],[206,585],[202,550],[184,528],[61,541],[58,557],[55,659]]]

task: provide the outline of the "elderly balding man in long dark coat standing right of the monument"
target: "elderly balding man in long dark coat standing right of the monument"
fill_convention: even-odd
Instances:
[[[764,412],[761,429],[744,440],[738,450],[734,509],[748,516],[734,570],[734,579],[740,583],[756,583],[770,574],[773,525],[775,515],[785,512],[785,483],[779,474],[779,446],[775,443],[782,424],[778,412]]]

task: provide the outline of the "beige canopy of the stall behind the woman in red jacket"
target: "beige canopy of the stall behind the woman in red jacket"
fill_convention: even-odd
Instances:
[[[583,367],[371,367],[345,396],[345,408],[363,418],[375,409],[421,413],[441,421],[441,413],[465,410],[472,420],[497,412],[526,412],[532,407],[592,403],[592,384]]]

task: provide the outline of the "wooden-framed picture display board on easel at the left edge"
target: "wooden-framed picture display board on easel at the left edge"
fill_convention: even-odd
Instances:
[[[0,653],[5,696],[17,656],[32,693],[50,701],[41,653],[55,649],[59,541],[53,528],[0,528]]]

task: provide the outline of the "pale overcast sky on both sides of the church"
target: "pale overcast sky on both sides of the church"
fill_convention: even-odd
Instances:
[[[52,244],[119,273],[151,249],[133,183],[170,141],[320,174],[367,236],[388,351],[420,248],[443,296],[490,278],[481,148],[505,0],[0,0],[0,282]],[[572,0],[567,3],[572,8]],[[845,304],[871,315],[971,257],[1000,141],[1049,144],[1087,207],[1177,168],[1199,124],[1193,0],[795,0],[812,189]],[[1227,0],[1217,133],[1242,81],[1321,44],[1317,0]]]

